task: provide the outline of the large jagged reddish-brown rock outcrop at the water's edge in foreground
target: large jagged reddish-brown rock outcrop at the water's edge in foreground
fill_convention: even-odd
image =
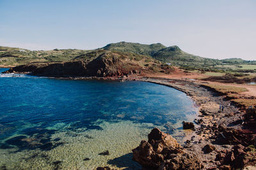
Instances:
[[[154,128],[148,141],[132,150],[132,159],[152,169],[202,169],[200,160],[182,148],[170,134]]]

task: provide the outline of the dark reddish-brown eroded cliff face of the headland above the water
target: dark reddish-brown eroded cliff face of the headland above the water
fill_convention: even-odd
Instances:
[[[35,62],[13,67],[4,73],[31,73],[38,76],[70,77],[70,76],[127,76],[139,74],[143,68],[130,60],[119,56],[102,53],[91,62],[74,60],[69,62]]]

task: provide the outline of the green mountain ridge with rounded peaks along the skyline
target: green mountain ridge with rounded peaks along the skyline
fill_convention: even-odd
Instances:
[[[180,66],[183,68],[193,67],[192,69],[202,69],[202,67],[212,67],[218,64],[243,64],[256,63],[256,61],[247,61],[243,59],[209,59],[193,55],[182,51],[179,46],[164,46],[161,43],[150,45],[141,43],[130,43],[121,41],[118,43],[109,43],[108,45],[95,50],[77,50],[77,49],[54,49],[54,50],[26,50],[24,48],[13,48],[0,46],[0,66],[19,66],[29,62],[67,62],[81,57],[93,59],[95,56],[88,56],[90,52],[96,50],[108,50],[112,52],[125,52],[129,55],[135,54],[150,56],[161,62]]]

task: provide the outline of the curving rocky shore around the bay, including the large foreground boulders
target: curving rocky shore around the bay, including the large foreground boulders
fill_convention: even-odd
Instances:
[[[181,143],[183,147],[175,142],[175,144],[166,145],[168,143],[165,141],[166,134],[161,131],[157,132],[161,134],[161,139],[152,141],[150,136],[156,132],[156,129],[148,134],[148,142],[141,141],[141,145],[133,150],[133,159],[143,167],[154,167],[154,169],[256,168],[255,129],[251,126],[255,123],[256,107],[242,110],[234,103],[230,103],[225,96],[206,89],[201,83],[192,80],[143,77],[140,81],[166,85],[185,92],[199,106],[199,113],[194,121],[197,125],[195,129],[191,128],[191,135]],[[223,110],[220,110],[220,105]],[[167,155],[166,152],[168,152]],[[184,159],[181,153],[186,153],[187,159]]]

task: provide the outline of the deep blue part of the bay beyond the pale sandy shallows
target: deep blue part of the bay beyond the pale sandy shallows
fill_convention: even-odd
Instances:
[[[63,126],[51,128],[60,123],[67,125],[68,131],[102,131],[100,122],[129,120],[157,127],[195,114],[193,102],[184,93],[154,83],[0,76],[1,148],[31,148],[28,143],[17,144],[28,136],[49,143],[52,134],[65,131]],[[172,133],[172,127],[165,131]]]

